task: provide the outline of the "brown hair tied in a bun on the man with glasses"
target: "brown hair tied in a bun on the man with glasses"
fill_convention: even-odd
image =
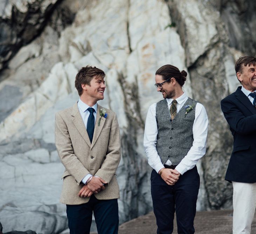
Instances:
[[[175,80],[180,84],[182,87],[186,81],[187,72],[182,70],[180,71],[177,67],[167,64],[162,66],[156,71],[156,75],[161,75],[163,80],[168,80],[169,78],[175,78]]]

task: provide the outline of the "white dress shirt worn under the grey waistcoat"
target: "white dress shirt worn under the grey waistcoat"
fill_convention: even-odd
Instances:
[[[188,96],[186,93],[176,99],[177,113],[183,107],[187,99]],[[167,98],[166,101],[168,104],[168,109],[170,109],[173,99]],[[188,151],[187,155],[175,168],[180,174],[184,174],[186,171],[192,169],[198,160],[206,153],[207,130],[208,117],[206,110],[202,104],[197,103],[195,107],[195,120],[193,124],[193,145]],[[156,103],[154,103],[150,105],[147,113],[144,131],[144,149],[148,157],[149,165],[158,173],[164,166],[156,150],[157,134]],[[171,161],[168,159],[164,164],[171,165]]]

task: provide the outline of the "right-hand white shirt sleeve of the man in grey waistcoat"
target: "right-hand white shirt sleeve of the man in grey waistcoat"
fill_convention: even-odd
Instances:
[[[208,117],[206,109],[200,103],[196,104],[195,120],[193,124],[193,145],[187,155],[176,166],[176,170],[181,174],[192,169],[198,160],[206,153],[206,139],[208,131]]]

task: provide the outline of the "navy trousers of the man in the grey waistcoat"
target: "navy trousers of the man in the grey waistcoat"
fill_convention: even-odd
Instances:
[[[176,212],[178,234],[193,234],[196,215],[196,200],[200,177],[196,166],[180,175],[174,185],[167,185],[153,170],[151,173],[151,195],[156,216],[157,234],[173,232]]]

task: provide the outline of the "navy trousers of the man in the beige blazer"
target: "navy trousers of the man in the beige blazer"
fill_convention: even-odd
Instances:
[[[87,203],[67,205],[70,234],[89,234],[94,213],[98,234],[117,234],[119,225],[117,199],[98,200],[94,195]]]

